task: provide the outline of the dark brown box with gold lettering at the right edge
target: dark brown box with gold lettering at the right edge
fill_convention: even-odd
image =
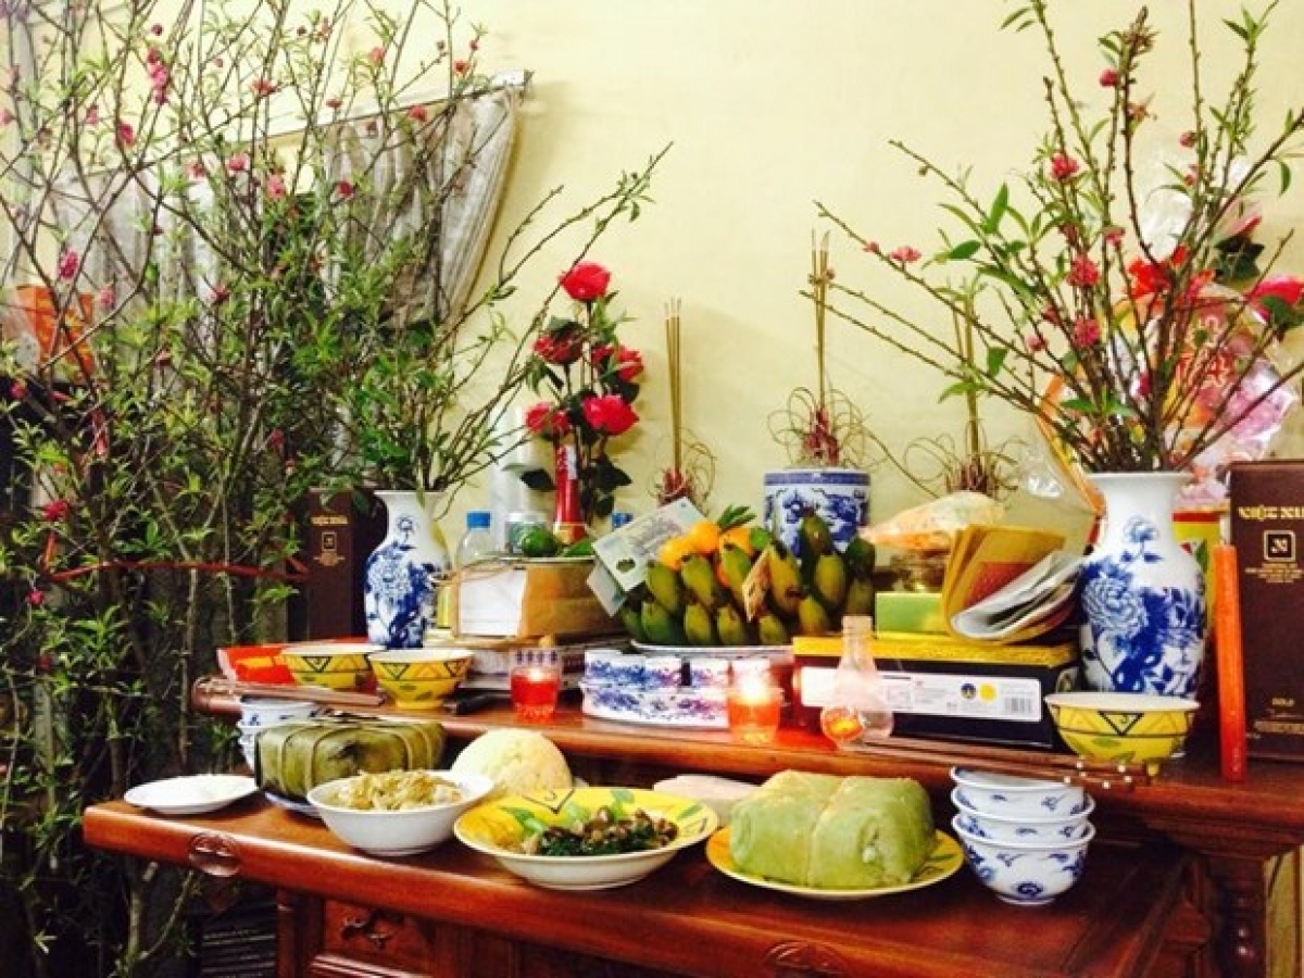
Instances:
[[[1304,462],[1237,463],[1230,486],[1247,747],[1304,760]]]

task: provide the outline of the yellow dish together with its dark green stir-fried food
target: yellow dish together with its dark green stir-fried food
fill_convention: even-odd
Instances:
[[[532,792],[476,806],[454,833],[549,889],[606,889],[643,879],[720,825],[692,798],[642,788]]]

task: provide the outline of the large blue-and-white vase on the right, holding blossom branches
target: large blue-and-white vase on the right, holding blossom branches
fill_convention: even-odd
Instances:
[[[1192,698],[1208,632],[1205,579],[1172,528],[1174,503],[1189,476],[1089,479],[1104,497],[1104,526],[1078,576],[1086,685]]]

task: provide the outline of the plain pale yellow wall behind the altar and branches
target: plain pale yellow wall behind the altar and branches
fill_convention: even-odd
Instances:
[[[1154,125],[1175,138],[1188,128],[1185,4],[1151,7],[1161,70],[1150,77],[1163,80]],[[1239,4],[1197,7],[1209,35],[1205,68],[1218,78],[1235,53],[1218,22]],[[1137,4],[1055,8],[1072,50],[1068,69],[1094,95],[1094,38],[1127,23]],[[669,299],[683,304],[686,422],[719,459],[713,505],[759,503],[762,473],[786,464],[767,419],[794,387],[815,382],[811,309],[798,295],[818,227],[814,202],[885,244],[927,250],[939,190],[888,141],[971,166],[978,185],[994,189],[1024,166],[1046,126],[1046,60],[1031,33],[999,29],[1013,9],[1005,0],[466,0],[463,9],[490,29],[486,68],[535,72],[501,227],[546,188],[565,184],[578,202],[674,143],[655,180],[656,205],[595,256],[614,273],[635,317],[629,342],[648,365],[642,434],[622,452],[636,482],[622,506],[636,511],[652,505],[647,485],[668,458]],[[1261,119],[1275,125],[1288,103],[1304,104],[1300,0],[1281,4],[1262,63]],[[1304,175],[1269,202],[1265,224],[1274,235],[1304,226]],[[1287,254],[1286,267],[1304,271],[1304,245]],[[832,261],[844,280],[863,280],[863,257],[836,239]],[[565,256],[539,262],[533,280],[542,284],[565,263]],[[935,316],[895,283],[878,283],[883,297]],[[831,325],[829,360],[835,386],[893,451],[919,436],[958,434],[957,407],[938,403],[938,378],[854,327]],[[998,437],[1028,430],[996,408],[988,416]],[[875,518],[923,499],[891,468],[874,477]],[[456,512],[481,498],[468,488]],[[447,526],[460,526],[460,515]]]

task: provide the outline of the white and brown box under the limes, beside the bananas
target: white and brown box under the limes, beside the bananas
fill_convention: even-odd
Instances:
[[[587,638],[622,634],[588,585],[592,559],[503,561],[452,578],[456,635]]]

